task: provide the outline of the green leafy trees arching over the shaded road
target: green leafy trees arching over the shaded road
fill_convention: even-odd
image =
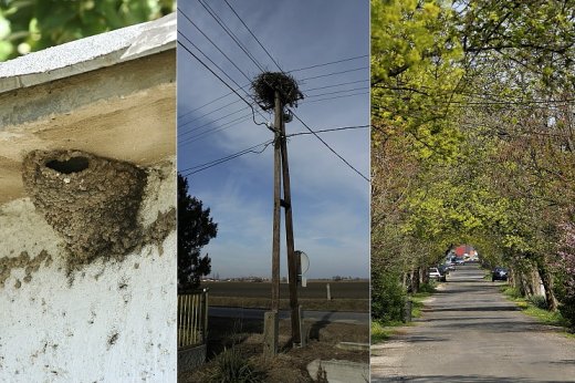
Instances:
[[[574,1],[372,1],[376,319],[470,242],[575,324],[574,22]]]

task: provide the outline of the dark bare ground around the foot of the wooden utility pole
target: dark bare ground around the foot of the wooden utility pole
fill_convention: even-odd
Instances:
[[[213,382],[217,370],[217,355],[226,348],[241,350],[270,383],[313,382],[307,373],[307,364],[315,359],[347,360],[352,362],[369,362],[368,350],[343,350],[339,342],[369,342],[369,328],[348,323],[314,322],[306,323],[310,341],[307,346],[293,349],[290,345],[290,321],[280,321],[280,352],[273,359],[265,360],[263,351],[263,323],[257,320],[238,321],[233,319],[210,319],[208,340],[208,362],[200,369],[178,375],[178,382]],[[313,376],[315,377],[315,376]]]

